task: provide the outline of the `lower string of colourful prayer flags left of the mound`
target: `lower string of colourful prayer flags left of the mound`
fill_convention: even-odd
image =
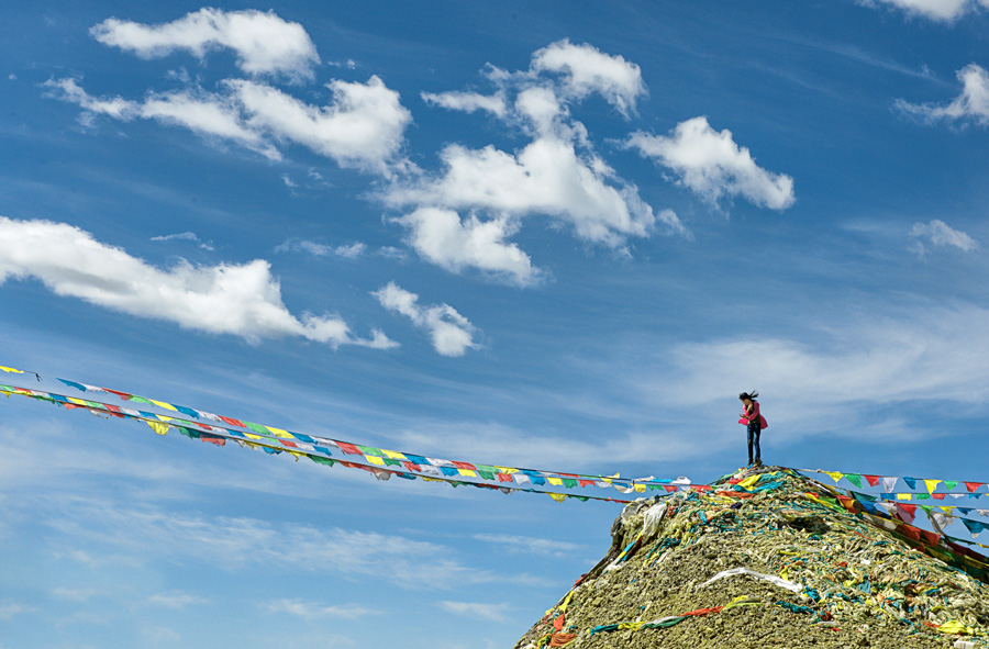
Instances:
[[[519,486],[514,483],[512,484],[487,484],[484,482],[475,482],[470,480],[458,480],[451,477],[445,475],[426,475],[413,472],[412,470],[408,470],[409,463],[401,462],[404,465],[407,470],[391,469],[385,468],[384,466],[375,466],[371,465],[363,465],[359,462],[351,462],[342,459],[334,459],[332,457],[333,452],[326,446],[321,446],[320,443],[331,443],[329,446],[335,446],[332,444],[332,440],[327,440],[321,437],[311,437],[304,436],[309,443],[304,443],[301,440],[302,436],[297,435],[298,441],[285,439],[280,436],[275,436],[273,434],[263,434],[263,433],[245,433],[242,430],[234,430],[232,428],[226,428],[224,426],[216,426],[213,424],[203,424],[202,422],[192,422],[189,419],[184,419],[179,417],[170,417],[166,415],[160,415],[157,413],[137,411],[127,407],[120,407],[102,402],[97,401],[86,401],[81,399],[74,399],[71,396],[66,396],[64,394],[57,394],[54,392],[44,392],[41,390],[31,390],[26,388],[18,388],[13,385],[0,384],[0,393],[10,395],[16,394],[20,396],[27,396],[30,399],[34,399],[37,401],[45,401],[47,403],[53,403],[55,405],[62,405],[66,409],[80,409],[89,411],[93,414],[100,416],[113,416],[118,418],[124,419],[133,419],[137,422],[143,422],[148,425],[156,434],[166,435],[169,429],[178,430],[186,437],[191,439],[201,439],[202,441],[207,441],[216,446],[224,446],[227,439],[234,440],[241,446],[245,446],[248,448],[255,448],[263,450],[266,454],[281,454],[288,452],[299,458],[308,457],[312,461],[326,465],[334,466],[341,465],[348,469],[360,469],[373,473],[375,478],[378,480],[389,480],[392,477],[403,478],[407,480],[415,480],[420,478],[426,482],[445,482],[452,486],[477,486],[481,489],[491,489],[498,490],[502,493],[511,493],[512,491],[520,491],[526,493],[542,493],[551,496],[553,500],[557,502],[563,502],[568,499],[576,499],[579,501],[604,501],[604,502],[614,502],[627,504],[632,501],[621,500],[621,499],[612,499],[612,497],[602,497],[602,496],[592,496],[592,495],[579,495],[579,494],[570,494],[570,493],[559,493],[547,491],[543,489],[535,489],[532,486]],[[419,469],[420,467],[414,467]],[[665,497],[669,495],[668,493],[663,493],[657,495],[656,497]]]

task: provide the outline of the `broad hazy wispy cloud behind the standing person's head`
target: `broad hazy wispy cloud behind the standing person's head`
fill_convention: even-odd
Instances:
[[[744,337],[679,345],[665,355],[670,365],[660,378],[631,380],[690,412],[756,388],[764,404],[774,404],[766,413],[769,430],[776,426],[791,438],[856,429],[879,416],[880,406],[908,402],[901,416],[929,434],[923,422],[932,415],[924,413],[933,406],[989,403],[987,354],[989,310],[918,304],[903,313],[844,318],[840,329],[822,331],[813,343]],[[755,367],[753,358],[759,359]]]

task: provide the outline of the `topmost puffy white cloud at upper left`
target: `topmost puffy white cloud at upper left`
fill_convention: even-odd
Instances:
[[[248,75],[282,74],[291,79],[311,79],[319,65],[315,46],[299,23],[248,9],[223,11],[203,8],[169,23],[146,25],[108,19],[90,30],[100,43],[159,58],[185,49],[202,58],[210,49],[232,49],[237,66]]]

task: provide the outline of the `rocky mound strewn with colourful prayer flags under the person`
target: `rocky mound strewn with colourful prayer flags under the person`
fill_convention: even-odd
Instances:
[[[636,501],[612,538],[516,649],[989,644],[985,558],[790,469]]]

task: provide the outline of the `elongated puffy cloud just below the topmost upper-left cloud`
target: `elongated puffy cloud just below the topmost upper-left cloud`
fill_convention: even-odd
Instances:
[[[227,79],[220,92],[200,88],[149,93],[142,101],[95,98],[75,79],[44,85],[51,97],[82,108],[84,123],[97,114],[115,120],[135,118],[182,126],[200,135],[230,141],[274,160],[277,145],[298,144],[342,167],[387,174],[403,141],[411,113],[398,92],[378,77],[367,83],[334,80],[333,101],[304,103],[276,88],[245,79]]]

